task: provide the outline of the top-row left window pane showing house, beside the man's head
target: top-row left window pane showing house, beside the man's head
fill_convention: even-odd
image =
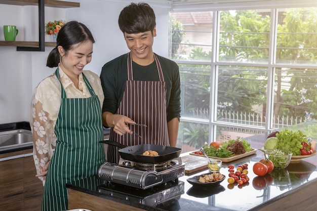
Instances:
[[[172,14],[172,59],[211,61],[213,12]]]

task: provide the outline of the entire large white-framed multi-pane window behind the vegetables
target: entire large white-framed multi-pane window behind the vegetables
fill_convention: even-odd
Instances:
[[[178,146],[314,119],[317,8],[172,12],[171,23],[182,91]]]

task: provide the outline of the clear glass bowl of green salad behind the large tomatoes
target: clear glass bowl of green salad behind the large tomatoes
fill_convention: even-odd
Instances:
[[[285,168],[290,164],[293,153],[280,149],[265,150],[266,157],[274,164],[274,168]]]

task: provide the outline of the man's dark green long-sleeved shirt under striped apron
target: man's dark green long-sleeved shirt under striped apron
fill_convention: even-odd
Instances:
[[[156,55],[156,54],[155,54]],[[178,65],[167,58],[156,55],[160,61],[164,80],[167,86],[166,112],[167,121],[175,117],[180,118],[180,78]],[[115,114],[128,80],[128,54],[113,59],[102,67],[100,74],[101,85],[104,93],[102,112]],[[147,66],[141,66],[133,62],[133,80],[159,81],[156,62]]]

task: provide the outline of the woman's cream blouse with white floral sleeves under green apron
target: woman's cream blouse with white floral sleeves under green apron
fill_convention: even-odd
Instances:
[[[70,78],[58,68],[60,79],[67,98],[89,98],[91,94],[86,86],[83,74],[79,76],[78,89]],[[83,73],[94,89],[100,100],[100,109],[103,104],[103,91],[99,76],[89,70]],[[44,167],[51,160],[53,149],[56,146],[56,136],[54,133],[55,123],[61,105],[61,85],[55,73],[39,82],[34,89],[31,102],[30,125],[33,134],[33,158],[36,172],[39,174],[39,166]],[[44,182],[43,177],[39,177]]]

